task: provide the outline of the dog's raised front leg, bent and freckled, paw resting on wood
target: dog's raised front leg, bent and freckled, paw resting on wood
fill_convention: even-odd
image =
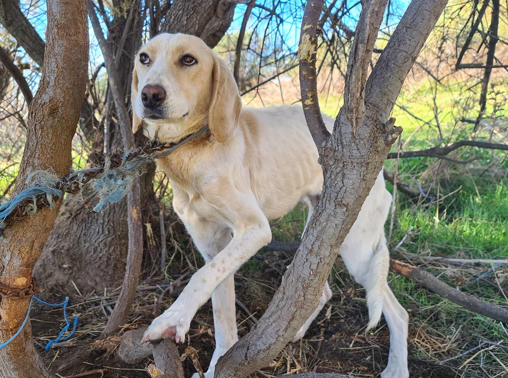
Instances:
[[[232,202],[236,201],[230,201],[229,206],[225,207],[230,207]],[[210,263],[194,273],[171,307],[148,327],[142,342],[172,337],[176,342],[183,341],[190,321],[199,307],[210,298],[215,288],[270,242],[271,231],[268,220],[256,202],[253,198],[241,198],[238,204],[240,202],[243,202],[243,207],[238,207],[241,214],[233,214],[239,221],[232,224],[234,236],[231,242]]]

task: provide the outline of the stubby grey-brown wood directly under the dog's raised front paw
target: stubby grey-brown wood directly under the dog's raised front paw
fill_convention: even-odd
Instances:
[[[120,339],[118,357],[128,364],[139,364],[145,358],[153,355],[155,367],[164,378],[183,378],[183,367],[178,348],[173,340],[162,340],[150,345],[141,345],[141,338],[146,327],[126,331]]]

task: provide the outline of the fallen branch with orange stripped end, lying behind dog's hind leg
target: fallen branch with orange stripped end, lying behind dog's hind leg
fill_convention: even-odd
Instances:
[[[295,253],[300,243],[296,242],[271,242],[265,248],[269,251],[283,251],[287,253]],[[466,310],[488,316],[499,322],[508,324],[508,309],[497,304],[486,302],[482,299],[473,297],[472,295],[463,293],[447,285],[446,283],[435,278],[432,274],[424,269],[413,265],[403,263],[396,259],[390,259],[390,270],[425,286],[442,297],[457,303],[466,308]]]

